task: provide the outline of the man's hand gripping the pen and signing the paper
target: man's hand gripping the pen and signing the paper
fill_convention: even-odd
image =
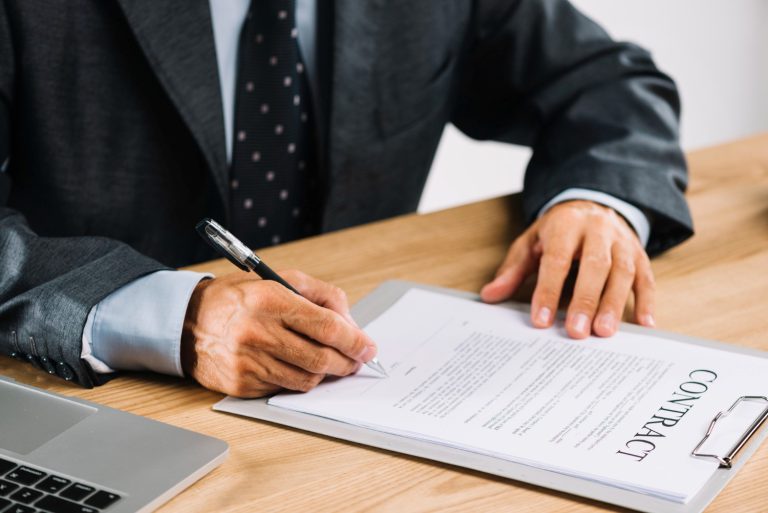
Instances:
[[[252,398],[283,388],[306,392],[376,356],[341,289],[298,271],[281,274],[301,296],[242,273],[198,284],[181,338],[186,376]]]

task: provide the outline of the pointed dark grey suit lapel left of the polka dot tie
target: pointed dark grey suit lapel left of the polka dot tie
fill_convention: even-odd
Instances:
[[[117,1],[205,156],[226,205],[224,116],[208,0]]]

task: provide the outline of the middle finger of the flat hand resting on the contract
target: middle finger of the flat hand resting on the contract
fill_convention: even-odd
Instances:
[[[585,338],[591,333],[592,319],[610,270],[611,240],[601,231],[592,232],[584,241],[576,286],[565,319],[565,329],[570,337]]]

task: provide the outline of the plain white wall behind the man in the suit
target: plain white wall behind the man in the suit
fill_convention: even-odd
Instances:
[[[768,130],[768,0],[572,0],[614,39],[651,50],[683,99],[690,150]],[[420,212],[518,191],[526,148],[449,126]]]

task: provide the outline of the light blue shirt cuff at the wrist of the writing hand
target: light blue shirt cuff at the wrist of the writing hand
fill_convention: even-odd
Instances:
[[[200,280],[211,277],[157,271],[117,289],[88,313],[81,357],[100,374],[121,369],[183,377],[187,305]]]

